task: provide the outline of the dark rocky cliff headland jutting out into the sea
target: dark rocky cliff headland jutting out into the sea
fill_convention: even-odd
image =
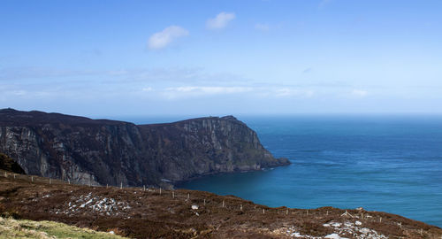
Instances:
[[[78,183],[140,186],[289,164],[232,116],[134,125],[0,110],[0,151],[26,173]]]

